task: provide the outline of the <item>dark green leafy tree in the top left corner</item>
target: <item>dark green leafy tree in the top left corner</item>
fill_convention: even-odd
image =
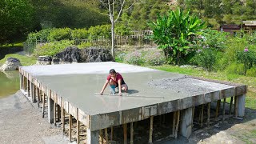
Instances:
[[[34,7],[29,0],[0,1],[0,43],[24,38],[35,24]]]

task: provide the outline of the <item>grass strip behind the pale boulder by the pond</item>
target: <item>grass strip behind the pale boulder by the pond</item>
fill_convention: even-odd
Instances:
[[[26,55],[20,55],[20,54],[6,54],[5,58],[2,58],[0,60],[0,65],[3,65],[6,62],[7,58],[18,58],[20,62],[22,63],[22,66],[30,66],[34,65],[37,61],[37,58],[35,57],[28,57]]]

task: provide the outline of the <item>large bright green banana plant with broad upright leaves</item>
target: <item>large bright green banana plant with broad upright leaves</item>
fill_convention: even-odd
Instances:
[[[169,62],[180,64],[194,44],[194,39],[206,28],[205,22],[190,11],[184,13],[180,8],[169,11],[162,17],[158,15],[156,22],[150,22],[154,42],[163,49]]]

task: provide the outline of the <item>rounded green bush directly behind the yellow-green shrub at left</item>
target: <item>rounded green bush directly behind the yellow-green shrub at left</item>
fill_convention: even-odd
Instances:
[[[61,41],[61,40],[71,40],[71,29],[62,28],[62,29],[53,29],[50,30],[50,34],[47,37],[49,42]]]

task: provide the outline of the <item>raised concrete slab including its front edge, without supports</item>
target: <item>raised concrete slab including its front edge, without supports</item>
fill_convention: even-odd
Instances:
[[[129,86],[128,93],[122,97],[95,94],[102,89],[112,68],[122,74]],[[58,94],[68,102],[66,105],[90,115],[88,123],[92,131],[183,110],[236,93],[236,86],[116,62],[23,66],[20,71]],[[105,94],[108,93],[107,87]]]

